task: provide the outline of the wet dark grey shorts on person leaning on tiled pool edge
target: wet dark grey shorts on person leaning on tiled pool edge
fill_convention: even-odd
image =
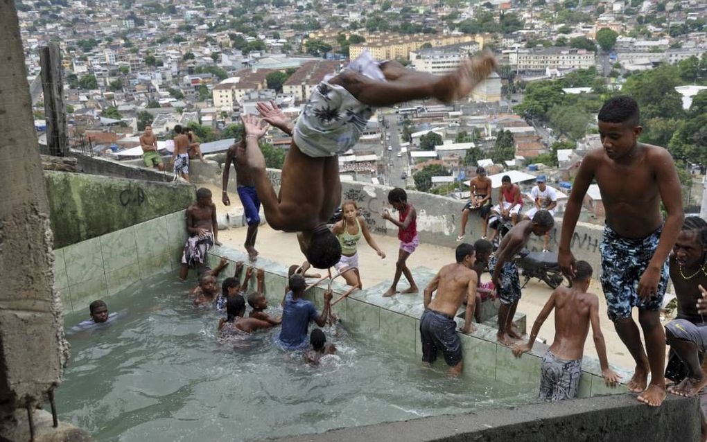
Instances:
[[[420,339],[422,361],[432,364],[440,350],[448,366],[456,366],[462,361],[462,341],[457,335],[454,318],[426,309],[420,318]]]

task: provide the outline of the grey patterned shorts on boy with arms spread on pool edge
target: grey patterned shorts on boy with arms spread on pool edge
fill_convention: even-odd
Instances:
[[[538,399],[545,402],[574,399],[577,396],[580,376],[582,359],[565,361],[558,359],[548,350],[542,356]]]

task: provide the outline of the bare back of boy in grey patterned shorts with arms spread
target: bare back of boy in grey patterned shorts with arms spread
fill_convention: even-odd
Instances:
[[[582,359],[587,340],[592,305],[599,299],[593,293],[580,293],[560,286],[555,289],[555,339],[550,351],[559,359]]]

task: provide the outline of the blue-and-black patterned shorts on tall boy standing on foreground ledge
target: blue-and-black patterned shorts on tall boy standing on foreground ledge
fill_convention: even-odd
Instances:
[[[602,289],[607,298],[609,319],[616,322],[631,316],[631,308],[660,310],[667,287],[668,264],[663,264],[658,291],[648,301],[638,296],[638,281],[658,248],[662,226],[646,238],[624,238],[609,226],[599,246],[602,252]]]

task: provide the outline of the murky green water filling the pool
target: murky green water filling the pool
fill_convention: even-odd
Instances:
[[[252,441],[475,409],[519,405],[534,391],[484,379],[450,380],[446,366],[377,336],[327,330],[339,351],[321,366],[272,344],[279,329],[219,343],[221,314],[194,310],[171,274],[106,298],[110,324],[71,329],[71,361],[57,390],[63,421],[98,441]],[[279,308],[271,306],[275,314]]]

